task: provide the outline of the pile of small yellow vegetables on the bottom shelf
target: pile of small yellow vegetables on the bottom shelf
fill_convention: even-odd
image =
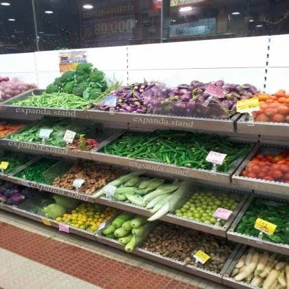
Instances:
[[[95,232],[99,225],[110,220],[114,213],[116,213],[115,208],[81,203],[71,213],[65,213],[55,220],[88,232]]]

